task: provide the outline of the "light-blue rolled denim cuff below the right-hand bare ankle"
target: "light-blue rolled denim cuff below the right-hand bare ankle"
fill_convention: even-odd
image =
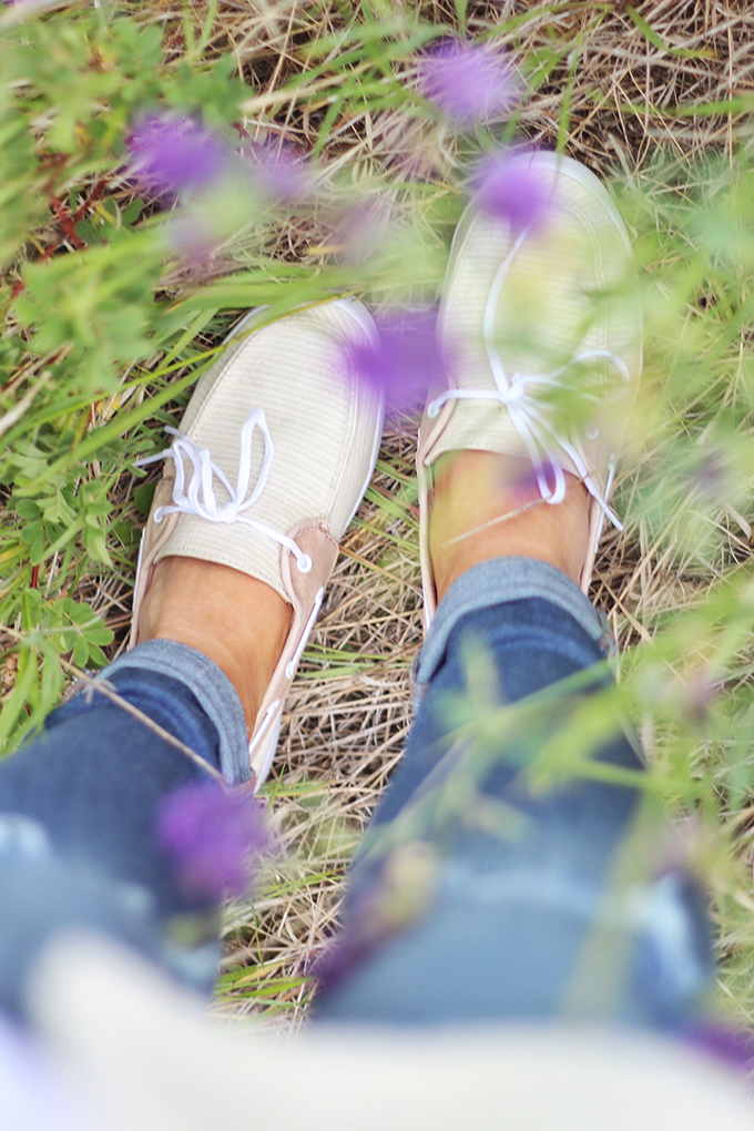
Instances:
[[[604,619],[562,570],[535,558],[491,558],[461,573],[437,605],[414,670],[417,691],[421,693],[436,672],[448,639],[462,616],[531,597],[557,605],[608,654],[609,630]]]

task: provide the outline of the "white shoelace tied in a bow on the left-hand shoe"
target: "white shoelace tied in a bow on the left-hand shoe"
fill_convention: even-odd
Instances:
[[[250,490],[251,460],[253,452],[254,429],[259,429],[265,440],[265,455],[262,466],[259,469],[255,484]],[[267,486],[270,474],[270,465],[275,456],[275,444],[267,424],[263,408],[253,408],[241,429],[241,454],[239,458],[239,476],[236,485],[233,487],[225,473],[213,463],[208,448],[200,448],[194,441],[176,428],[166,428],[175,437],[170,448],[158,452],[156,456],[147,456],[137,460],[138,466],[154,464],[158,459],[172,459],[175,464],[175,483],[173,484],[173,506],[158,507],[154,513],[155,523],[162,523],[165,515],[183,513],[196,515],[208,523],[244,523],[253,527],[260,534],[265,534],[278,542],[281,546],[287,546],[296,559],[296,564],[302,573],[309,573],[312,568],[312,560],[304,553],[301,546],[286,534],[275,530],[266,523],[260,523],[254,518],[249,518],[244,511],[257,502],[262,491]],[[193,470],[187,484],[184,460],[190,460]],[[215,497],[213,476],[217,476],[227,493],[228,502],[220,507]]]

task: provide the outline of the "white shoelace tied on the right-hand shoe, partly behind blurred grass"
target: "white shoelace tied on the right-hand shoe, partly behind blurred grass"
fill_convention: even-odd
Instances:
[[[555,370],[553,373],[515,372],[509,378],[495,348],[495,313],[500,301],[500,294],[503,288],[503,283],[505,282],[508,273],[511,268],[513,258],[527,235],[528,230],[525,228],[511,248],[504,261],[497,268],[485,305],[483,339],[485,349],[487,351],[487,357],[489,360],[489,368],[492,370],[495,388],[447,389],[427,406],[427,415],[431,417],[436,416],[442,406],[449,400],[497,400],[508,409],[513,426],[521,438],[521,442],[527,450],[531,460],[531,466],[535,470],[539,493],[545,502],[555,504],[562,502],[565,498],[565,474],[557,455],[557,450],[561,449],[571,459],[579,477],[583,482],[590,495],[598,503],[606,518],[608,518],[618,530],[622,530],[623,525],[621,520],[607,503],[607,497],[609,497],[613,477],[615,475],[614,460],[609,460],[607,482],[605,484],[605,493],[603,494],[595,483],[582,456],[570,442],[570,440],[567,440],[567,438],[555,428],[553,421],[549,418],[553,413],[553,407],[548,405],[547,402],[538,399],[536,391],[537,389],[543,388],[567,389],[567,383],[560,380],[562,374],[567,369],[582,362],[596,361],[599,359],[604,359],[615,365],[621,374],[621,378],[625,382],[625,388],[627,389],[629,383],[631,382],[629,366],[622,357],[618,357],[617,354],[612,353],[609,349],[587,349],[583,353],[578,354],[578,356],[573,357],[566,365],[561,366],[561,369]],[[624,390],[622,389],[619,395],[622,396],[623,394]],[[587,400],[592,400],[595,404],[599,404],[604,400],[603,397],[597,397],[592,394],[583,391],[579,392],[579,396]],[[589,435],[588,431],[587,435]],[[595,439],[595,437],[596,433],[590,438]],[[554,487],[551,487],[547,482],[547,469],[552,472],[555,483]]]

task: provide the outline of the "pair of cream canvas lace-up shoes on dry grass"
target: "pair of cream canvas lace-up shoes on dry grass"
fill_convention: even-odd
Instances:
[[[563,498],[564,472],[580,478],[591,503],[584,588],[604,518],[616,521],[608,502],[615,459],[596,430],[607,425],[609,434],[603,406],[615,374],[618,395],[638,375],[640,335],[635,314],[621,304],[600,308],[600,296],[625,276],[629,238],[608,193],[582,165],[546,153],[520,159],[546,185],[549,219],[515,232],[470,205],[444,284],[439,333],[452,351],[453,375],[430,396],[417,459],[427,623],[436,604],[427,534],[432,469],[441,455],[468,448],[525,455],[548,503]],[[175,439],[162,454],[165,473],[142,537],[131,632],[135,645],[155,567],[171,555],[229,566],[292,605],[251,732],[257,787],[338,542],[373,473],[383,422],[381,398],[348,379],[344,345],[373,345],[378,336],[361,303],[333,300],[257,326],[261,319],[263,312],[252,312],[236,327],[199,381],[181,429],[171,430]],[[561,429],[547,400],[574,387],[577,370],[591,380],[579,397],[588,435],[578,439]]]

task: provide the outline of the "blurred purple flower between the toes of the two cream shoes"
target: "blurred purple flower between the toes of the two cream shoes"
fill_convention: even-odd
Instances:
[[[350,369],[393,408],[409,408],[442,386],[448,359],[437,342],[434,309],[405,310],[378,319],[379,339],[349,349]]]

